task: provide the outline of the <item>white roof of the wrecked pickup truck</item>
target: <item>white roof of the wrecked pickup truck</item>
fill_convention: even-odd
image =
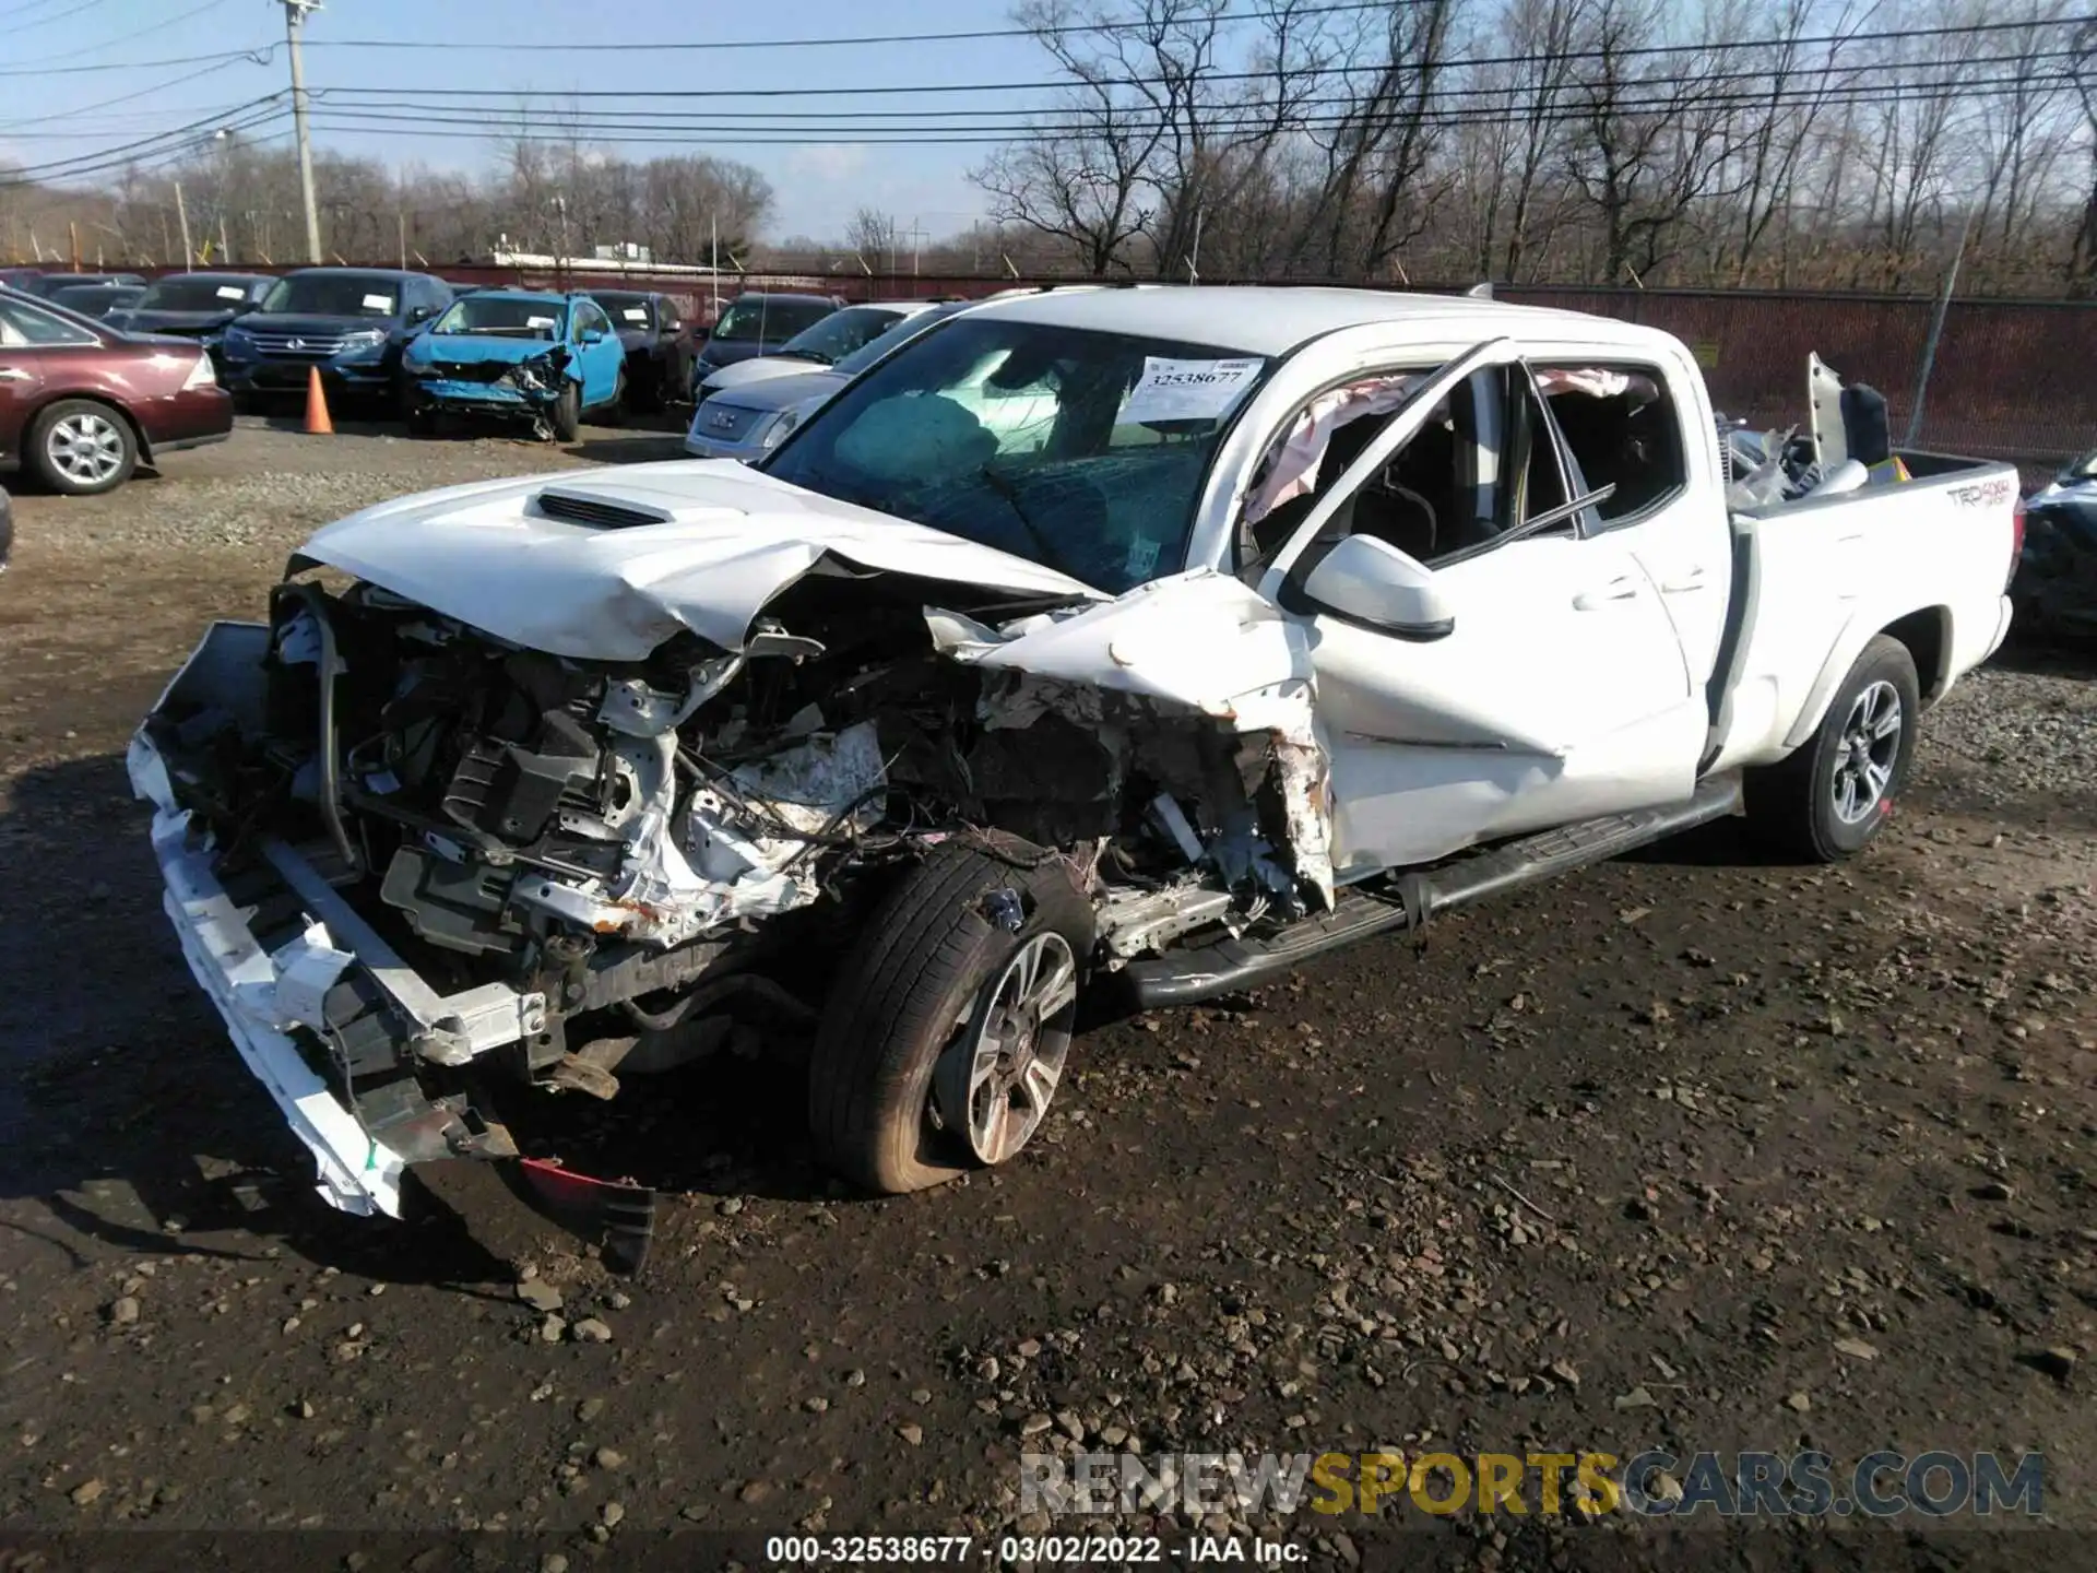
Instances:
[[[1239,354],[1283,354],[1309,338],[1367,323],[1413,323],[1422,340],[1569,336],[1655,352],[1665,333],[1613,317],[1510,306],[1474,296],[1422,296],[1397,289],[1294,289],[1273,285],[1164,285],[1155,289],[1074,289],[994,300],[971,317],[1011,317],[1048,327],[1210,344]]]

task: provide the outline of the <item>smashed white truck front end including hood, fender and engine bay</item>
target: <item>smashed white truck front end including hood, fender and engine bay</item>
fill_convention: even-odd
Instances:
[[[793,952],[942,849],[1053,852],[1109,967],[1332,900],[1302,638],[1235,579],[1103,598],[669,470],[661,508],[633,472],[321,531],[132,742],[191,971],[336,1206],[514,1156],[505,1084],[805,1028]]]

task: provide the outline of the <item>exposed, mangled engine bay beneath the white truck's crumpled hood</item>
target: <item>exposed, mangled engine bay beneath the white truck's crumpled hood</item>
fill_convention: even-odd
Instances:
[[[185,673],[145,736],[229,889],[296,847],[447,1000],[518,1003],[499,1026],[403,1021],[384,988],[342,988],[369,942],[308,925],[273,950],[275,1023],[411,1162],[512,1151],[495,1103],[447,1072],[608,1099],[751,1021],[803,1026],[809,956],[849,944],[885,877],[939,843],[1061,860],[1109,969],[1319,902],[1329,875],[1290,839],[1319,814],[1302,730],[971,661],[1082,604],[977,591],[931,610],[929,594],[956,585],[816,573],[740,650],[686,631],[614,663],[371,583],[287,581],[266,629],[214,629],[254,640],[233,656],[252,711],[224,703],[224,673]]]

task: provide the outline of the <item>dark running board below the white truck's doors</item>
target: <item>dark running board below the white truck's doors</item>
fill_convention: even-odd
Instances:
[[[1292,971],[1327,950],[1390,929],[1420,927],[1434,912],[1606,862],[1650,841],[1726,818],[1738,807],[1738,776],[1713,778],[1686,803],[1562,824],[1556,831],[1455,858],[1439,868],[1395,875],[1380,881],[1374,891],[1348,887],[1340,891],[1332,912],[1292,923],[1281,933],[1264,940],[1220,940],[1195,950],[1132,961],[1122,977],[1143,1011],[1216,998]]]

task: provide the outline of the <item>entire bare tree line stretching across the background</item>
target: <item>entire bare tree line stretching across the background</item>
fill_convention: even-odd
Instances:
[[[2097,25],[2072,0],[1023,0],[1061,84],[971,170],[988,216],[860,210],[627,159],[554,109],[482,174],[317,149],[323,250],[442,266],[637,245],[797,273],[2097,294]],[[180,199],[176,199],[180,191]],[[281,138],[8,180],[0,254],[300,260]]]

